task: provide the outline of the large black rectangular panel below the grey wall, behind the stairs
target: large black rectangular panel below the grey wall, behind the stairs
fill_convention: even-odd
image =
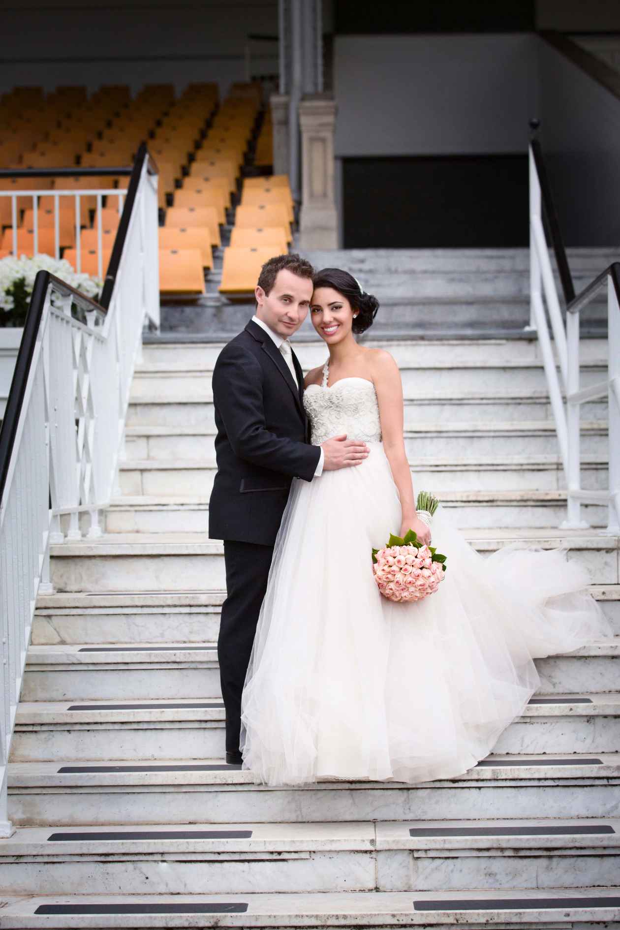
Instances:
[[[345,248],[527,246],[525,153],[342,160]]]

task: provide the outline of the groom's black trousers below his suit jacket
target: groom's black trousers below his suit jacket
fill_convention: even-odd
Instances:
[[[226,751],[239,751],[241,694],[267,591],[273,546],[224,540],[227,597],[219,623],[218,660],[226,708]]]

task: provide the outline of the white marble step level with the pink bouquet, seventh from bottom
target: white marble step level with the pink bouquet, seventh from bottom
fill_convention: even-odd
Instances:
[[[465,534],[481,553],[517,542],[566,547],[590,572],[592,584],[618,584],[620,538],[600,530],[473,529]],[[448,553],[449,554],[449,553]],[[221,591],[224,550],[204,533],[113,533],[50,546],[57,591]]]

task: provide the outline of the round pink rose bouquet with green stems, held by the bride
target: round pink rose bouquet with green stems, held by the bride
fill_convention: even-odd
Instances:
[[[437,498],[426,492],[425,512],[428,517],[437,509]],[[420,498],[418,498],[418,507]],[[425,520],[427,523],[428,520]],[[413,530],[404,538],[389,537],[387,546],[373,550],[373,572],[376,585],[389,601],[421,601],[439,588],[444,572],[445,555],[433,546],[422,545]]]

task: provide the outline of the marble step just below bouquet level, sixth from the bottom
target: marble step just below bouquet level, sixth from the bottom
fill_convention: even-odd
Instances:
[[[620,635],[620,585],[591,585],[590,591]],[[215,643],[225,596],[225,591],[40,595],[32,642],[59,647]]]

